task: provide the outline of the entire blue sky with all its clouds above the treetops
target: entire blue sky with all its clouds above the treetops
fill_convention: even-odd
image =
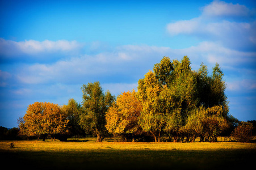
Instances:
[[[119,95],[163,56],[224,71],[230,114],[256,120],[255,1],[0,1],[0,126],[28,104]]]

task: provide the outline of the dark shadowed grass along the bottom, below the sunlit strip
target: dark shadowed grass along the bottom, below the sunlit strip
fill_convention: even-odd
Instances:
[[[0,150],[9,169],[246,169],[254,167],[255,150]]]

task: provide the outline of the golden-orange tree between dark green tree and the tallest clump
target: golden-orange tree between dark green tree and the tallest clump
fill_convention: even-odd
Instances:
[[[132,140],[141,133],[138,124],[142,105],[135,90],[123,92],[106,114],[106,128],[110,133],[121,134],[124,138],[132,135]]]

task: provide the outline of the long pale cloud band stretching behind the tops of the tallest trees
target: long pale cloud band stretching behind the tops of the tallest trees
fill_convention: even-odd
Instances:
[[[236,68],[238,65],[241,69],[246,63],[255,63],[256,60],[255,52],[240,52],[209,41],[185,49],[124,45],[117,46],[111,52],[62,59],[51,64],[22,65],[18,68],[16,77],[25,84],[84,83],[96,80],[110,83],[108,79],[131,83],[153,69],[154,64],[160,62],[163,56],[181,59],[186,55],[190,57],[194,66],[204,62],[212,67],[218,62],[221,67],[228,69]],[[198,66],[193,69],[198,69]]]

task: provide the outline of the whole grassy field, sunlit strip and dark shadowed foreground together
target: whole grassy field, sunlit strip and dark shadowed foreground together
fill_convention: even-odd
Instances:
[[[255,166],[256,144],[236,142],[132,143],[0,141],[2,167],[11,169],[245,169]],[[10,143],[14,148],[10,148]]]

